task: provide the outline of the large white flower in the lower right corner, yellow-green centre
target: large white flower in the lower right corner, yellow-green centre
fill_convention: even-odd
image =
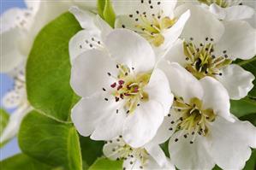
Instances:
[[[242,169],[256,148],[256,128],[229,113],[229,95],[216,79],[195,79],[177,63],[160,64],[175,95],[154,138],[170,138],[171,162],[179,169]],[[174,81],[175,79],[175,81]]]

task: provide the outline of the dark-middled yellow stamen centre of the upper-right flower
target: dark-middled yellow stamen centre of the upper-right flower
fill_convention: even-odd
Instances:
[[[206,38],[206,43],[199,44],[199,47],[193,44],[193,42],[183,43],[184,55],[187,56],[186,60],[189,62],[186,65],[186,69],[193,73],[197,79],[202,79],[205,76],[215,78],[216,75],[222,75],[220,70],[232,62],[228,59],[226,50],[223,51],[222,56],[213,55],[213,39],[211,38],[211,42],[207,43],[207,41],[208,38]]]

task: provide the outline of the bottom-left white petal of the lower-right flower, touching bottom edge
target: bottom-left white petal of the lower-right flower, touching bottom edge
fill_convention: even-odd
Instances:
[[[175,139],[178,141],[175,142]],[[176,132],[169,143],[170,160],[179,169],[211,169],[215,163],[207,151],[204,137],[197,136],[193,140],[193,135],[184,138],[181,132]]]

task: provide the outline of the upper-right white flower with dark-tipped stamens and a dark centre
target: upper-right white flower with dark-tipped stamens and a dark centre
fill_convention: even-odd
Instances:
[[[217,79],[231,99],[246,97],[253,88],[254,76],[231,62],[253,58],[256,30],[246,21],[222,23],[204,9],[192,6],[190,10],[192,15],[181,36],[184,42],[177,41],[166,59],[178,62],[197,79]]]

